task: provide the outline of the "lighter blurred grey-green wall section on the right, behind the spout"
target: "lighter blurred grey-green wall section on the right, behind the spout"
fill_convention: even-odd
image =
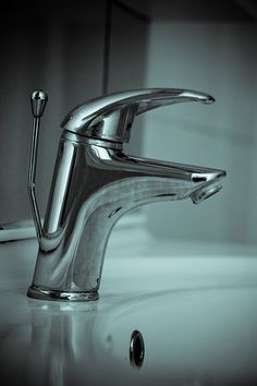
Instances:
[[[257,242],[256,38],[255,24],[237,21],[151,24],[147,85],[205,91],[216,102],[148,113],[145,155],[228,172],[223,190],[197,206],[185,201],[147,208],[151,232]]]

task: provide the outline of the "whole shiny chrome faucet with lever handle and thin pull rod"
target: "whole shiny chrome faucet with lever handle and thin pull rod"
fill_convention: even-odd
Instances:
[[[131,209],[191,197],[197,204],[221,189],[222,170],[127,156],[134,118],[182,101],[211,104],[204,93],[149,88],[111,94],[74,108],[63,120],[41,227],[35,195],[39,120],[47,95],[32,94],[34,114],[28,193],[39,251],[28,297],[98,299],[105,251],[117,220]]]

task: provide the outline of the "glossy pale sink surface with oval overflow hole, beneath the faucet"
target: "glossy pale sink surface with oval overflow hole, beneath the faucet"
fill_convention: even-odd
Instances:
[[[108,256],[99,301],[56,303],[26,297],[36,249],[0,245],[8,385],[257,384],[255,257]]]

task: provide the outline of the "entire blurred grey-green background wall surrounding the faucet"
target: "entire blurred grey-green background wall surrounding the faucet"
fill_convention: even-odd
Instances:
[[[257,11],[254,1],[10,2],[1,13],[0,220],[30,217],[26,193],[29,94],[42,88],[37,194],[45,213],[60,122],[75,105],[140,87],[203,91],[136,120],[128,153],[225,169],[224,189],[136,212],[159,240],[257,244]],[[139,220],[138,220],[139,219]]]

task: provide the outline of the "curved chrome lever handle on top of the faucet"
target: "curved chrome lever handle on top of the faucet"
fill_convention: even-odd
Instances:
[[[181,88],[145,88],[110,94],[75,107],[62,128],[97,140],[128,142],[135,116],[183,101],[212,104],[208,94]]]

